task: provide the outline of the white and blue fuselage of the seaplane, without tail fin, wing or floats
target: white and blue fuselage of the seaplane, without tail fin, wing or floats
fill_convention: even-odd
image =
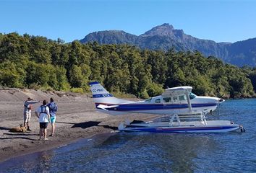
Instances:
[[[108,114],[119,115],[127,113],[148,113],[148,114],[158,114],[158,115],[170,115],[170,114],[197,114],[203,111],[210,112],[216,110],[219,99],[216,97],[195,97],[190,100],[192,110],[189,112],[189,105],[185,97],[174,97],[171,99],[166,99],[166,97],[157,96],[151,99],[140,102],[128,102],[119,104],[107,104],[107,103],[95,103],[96,107],[98,105],[106,105],[108,108]],[[181,99],[181,100],[180,100]],[[169,102],[166,102],[169,101]],[[111,107],[111,105],[116,105],[116,107]],[[101,110],[101,109],[98,109]],[[106,112],[106,110],[101,110]]]

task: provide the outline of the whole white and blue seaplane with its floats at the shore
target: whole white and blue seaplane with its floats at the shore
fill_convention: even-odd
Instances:
[[[221,133],[240,129],[242,125],[229,120],[207,120],[206,115],[225,102],[218,97],[197,96],[192,86],[177,86],[150,99],[130,101],[110,94],[98,81],[90,82],[93,102],[98,111],[110,115],[143,113],[161,115],[148,122],[126,120],[119,125],[121,131],[155,133]]]

